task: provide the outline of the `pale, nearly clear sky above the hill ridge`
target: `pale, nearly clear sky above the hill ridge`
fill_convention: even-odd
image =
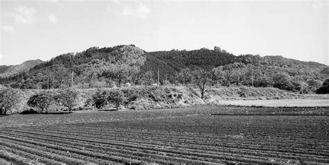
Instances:
[[[219,46],[329,65],[328,1],[0,0],[0,64],[92,46],[145,51]]]

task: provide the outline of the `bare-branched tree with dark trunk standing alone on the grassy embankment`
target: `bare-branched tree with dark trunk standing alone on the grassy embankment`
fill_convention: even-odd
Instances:
[[[194,85],[200,89],[201,98],[203,99],[205,92],[209,89],[210,71],[195,69],[192,71],[192,80]]]

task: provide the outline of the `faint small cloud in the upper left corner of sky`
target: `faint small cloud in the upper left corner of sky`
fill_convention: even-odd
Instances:
[[[28,8],[26,6],[16,6],[11,16],[18,24],[33,24],[36,20],[35,8]]]

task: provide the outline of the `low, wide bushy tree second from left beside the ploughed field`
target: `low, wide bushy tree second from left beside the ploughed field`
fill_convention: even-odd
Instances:
[[[37,107],[41,112],[48,112],[49,106],[53,104],[53,95],[49,92],[40,92],[28,99],[27,105],[30,107]]]

